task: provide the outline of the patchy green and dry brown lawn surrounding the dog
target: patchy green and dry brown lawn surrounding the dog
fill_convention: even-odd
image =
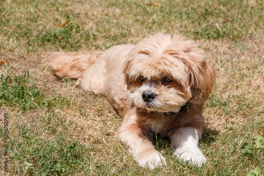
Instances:
[[[263,1],[0,2],[0,130],[9,117],[9,171],[2,175],[264,175]],[[205,49],[217,72],[205,103],[201,167],[178,161],[168,139],[153,144],[164,169],[136,165],[116,140],[122,117],[104,97],[89,95],[48,66],[59,48],[105,50],[175,32]],[[1,144],[4,133],[0,133]],[[245,146],[250,152],[243,153]],[[253,146],[253,147],[251,147]],[[3,161],[3,151],[1,160]],[[3,163],[2,163],[3,164]],[[257,170],[257,169],[255,169]]]

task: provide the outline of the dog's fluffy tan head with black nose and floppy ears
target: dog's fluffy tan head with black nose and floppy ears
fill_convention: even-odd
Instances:
[[[204,50],[180,35],[155,34],[139,42],[126,56],[125,83],[132,102],[148,111],[178,112],[188,101],[208,99],[215,70]]]

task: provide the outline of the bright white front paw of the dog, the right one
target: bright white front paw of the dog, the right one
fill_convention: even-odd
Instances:
[[[188,148],[182,147],[175,150],[174,155],[182,160],[182,161],[189,161],[189,163],[201,167],[203,164],[206,163],[206,158],[202,154],[201,150],[197,147],[195,148]]]

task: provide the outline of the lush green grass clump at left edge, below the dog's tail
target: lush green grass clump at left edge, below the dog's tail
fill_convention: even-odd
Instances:
[[[13,69],[13,68],[12,68]],[[9,70],[0,77],[0,105],[18,107],[23,111],[33,109],[52,109],[63,104],[67,106],[70,101],[67,97],[45,96],[36,86],[36,81],[31,79],[28,70],[24,75],[12,75]]]

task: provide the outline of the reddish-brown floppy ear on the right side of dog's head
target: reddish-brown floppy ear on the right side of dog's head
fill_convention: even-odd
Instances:
[[[190,70],[191,103],[205,102],[212,91],[215,81],[215,70],[206,61],[202,61],[198,69]]]

